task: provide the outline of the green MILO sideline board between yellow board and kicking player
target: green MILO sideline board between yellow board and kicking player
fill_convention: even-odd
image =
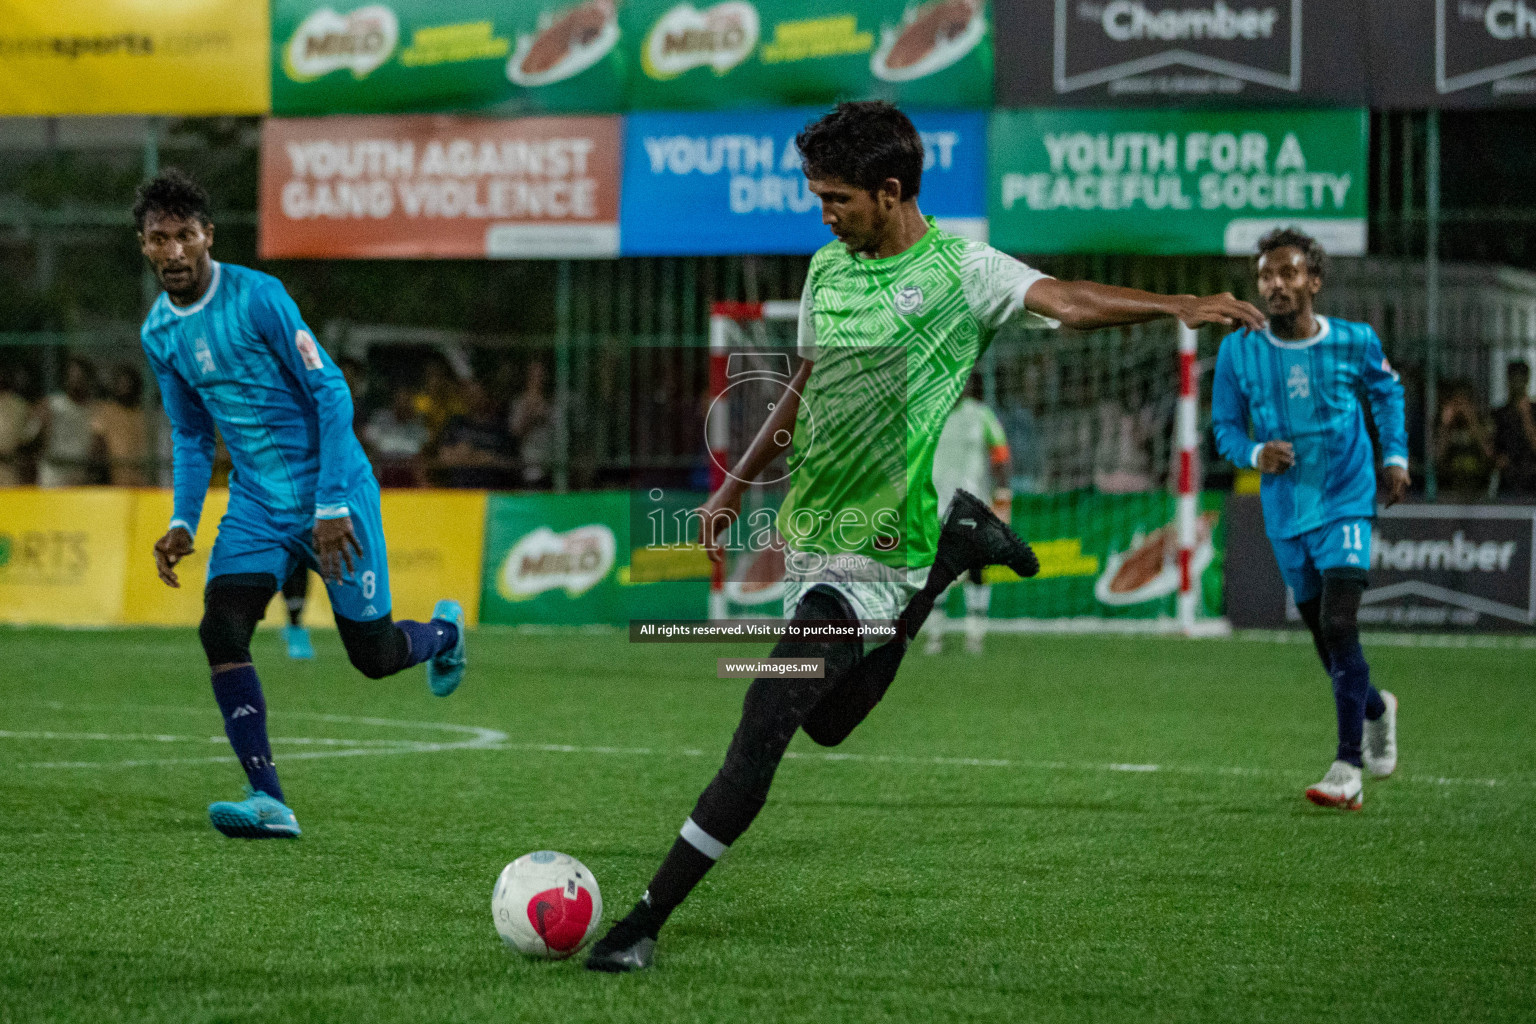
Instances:
[[[479,620],[622,625],[705,616],[708,582],[636,583],[630,554],[625,491],[492,494]]]

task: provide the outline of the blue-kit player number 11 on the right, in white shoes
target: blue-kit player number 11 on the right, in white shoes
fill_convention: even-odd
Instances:
[[[1269,327],[1221,341],[1212,421],[1221,454],[1264,474],[1264,531],[1333,680],[1338,754],[1307,798],[1358,811],[1361,768],[1382,777],[1398,765],[1398,699],[1370,685],[1356,622],[1378,497],[1358,391],[1370,401],[1381,439],[1385,505],[1409,490],[1409,445],[1402,385],[1376,332],[1313,312],[1322,269],[1322,247],[1298,230],[1260,241],[1258,290]]]

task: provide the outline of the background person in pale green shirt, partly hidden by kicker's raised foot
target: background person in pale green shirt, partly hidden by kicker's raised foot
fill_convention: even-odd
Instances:
[[[972,494],[992,494],[992,511],[998,519],[1008,522],[1014,508],[1014,491],[1009,487],[1012,474],[1012,456],[1008,451],[1008,438],[1003,424],[997,421],[986,402],[982,401],[982,376],[971,375],[966,381],[960,401],[955,402],[945,430],[938,434],[938,448],[934,451],[934,490],[938,491],[940,511],[949,508],[949,499],[955,490],[966,490]],[[945,597],[934,603],[934,614],[929,619],[923,645],[925,654],[940,654],[945,649]],[[978,573],[969,574],[965,583],[965,649],[980,654],[986,640],[986,613],[992,603],[992,588],[982,582]]]

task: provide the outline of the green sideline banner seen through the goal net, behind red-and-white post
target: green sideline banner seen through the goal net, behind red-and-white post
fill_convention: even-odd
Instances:
[[[986,571],[994,583],[994,619],[1158,619],[1175,614],[1178,596],[1177,499],[1167,491],[1140,494],[1021,494],[1014,528],[1040,556],[1040,576],[1018,580],[1006,568]],[[1220,616],[1226,550],[1226,494],[1200,496],[1193,568],[1201,614]],[[958,588],[955,588],[958,591]],[[948,614],[963,616],[958,593]]]

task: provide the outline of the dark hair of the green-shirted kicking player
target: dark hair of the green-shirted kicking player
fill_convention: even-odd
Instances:
[[[808,178],[836,178],[871,195],[886,178],[895,178],[903,200],[915,200],[923,184],[923,140],[912,121],[885,100],[839,103],[806,124],[794,144]]]

